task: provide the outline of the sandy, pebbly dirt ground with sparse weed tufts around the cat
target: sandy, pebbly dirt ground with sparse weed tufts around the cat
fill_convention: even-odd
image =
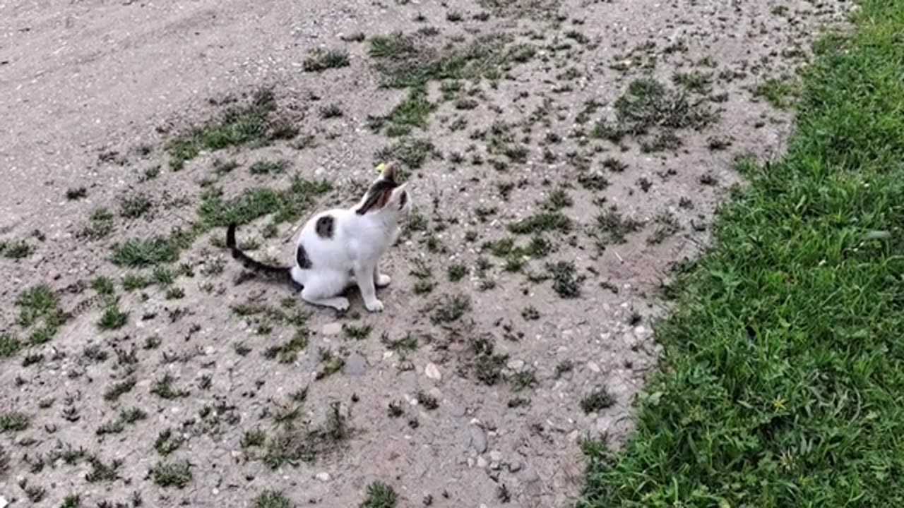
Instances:
[[[0,2],[0,506],[570,506],[848,4]],[[249,212],[285,264],[388,159],[382,314],[242,281],[210,207],[329,183]]]

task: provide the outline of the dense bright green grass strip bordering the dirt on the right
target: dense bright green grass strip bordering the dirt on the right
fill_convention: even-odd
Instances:
[[[904,9],[861,7],[673,284],[636,433],[585,443],[579,507],[904,505]]]

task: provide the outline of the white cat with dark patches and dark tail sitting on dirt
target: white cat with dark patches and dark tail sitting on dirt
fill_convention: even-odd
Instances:
[[[348,310],[348,298],[341,294],[357,284],[367,310],[382,312],[376,288],[389,286],[391,278],[378,265],[398,239],[400,219],[410,213],[407,186],[396,181],[395,165],[386,165],[355,206],[316,213],[298,234],[292,267],[270,266],[242,252],[236,224],[226,230],[226,247],[245,268],[284,280],[310,304]]]

